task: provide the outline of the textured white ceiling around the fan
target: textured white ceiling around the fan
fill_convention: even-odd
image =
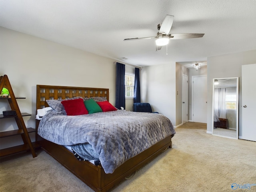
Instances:
[[[156,52],[166,14],[170,40]],[[256,49],[256,0],[0,0],[0,26],[138,66],[206,63],[207,57]]]

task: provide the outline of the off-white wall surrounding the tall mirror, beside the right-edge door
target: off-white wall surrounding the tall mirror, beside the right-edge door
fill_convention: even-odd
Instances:
[[[212,133],[212,79],[239,77],[239,136],[242,125],[242,65],[256,63],[256,50],[208,57],[207,59],[207,132]]]

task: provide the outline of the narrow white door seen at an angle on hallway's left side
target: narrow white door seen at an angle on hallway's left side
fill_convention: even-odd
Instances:
[[[188,76],[182,76],[182,124],[188,122]]]

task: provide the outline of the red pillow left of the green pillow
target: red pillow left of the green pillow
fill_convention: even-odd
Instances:
[[[67,115],[88,114],[88,110],[84,106],[84,100],[81,98],[73,100],[63,100],[61,104],[64,106]]]

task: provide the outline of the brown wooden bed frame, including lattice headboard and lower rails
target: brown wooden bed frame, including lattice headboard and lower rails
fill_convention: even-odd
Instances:
[[[109,100],[109,90],[105,88],[37,85],[36,109],[47,107],[48,104],[46,100],[48,99],[66,99],[76,96],[99,96],[106,97],[106,99]],[[36,120],[36,130],[39,122],[39,120]],[[144,166],[166,148],[172,148],[171,136],[168,136],[144,152],[124,162],[114,173],[106,174],[100,165],[96,166],[88,161],[78,161],[74,157],[74,154],[68,149],[45,140],[39,135],[36,135],[36,142],[40,144],[43,150],[60,162],[60,164],[97,192],[106,192],[124,178],[131,175],[134,171]]]

